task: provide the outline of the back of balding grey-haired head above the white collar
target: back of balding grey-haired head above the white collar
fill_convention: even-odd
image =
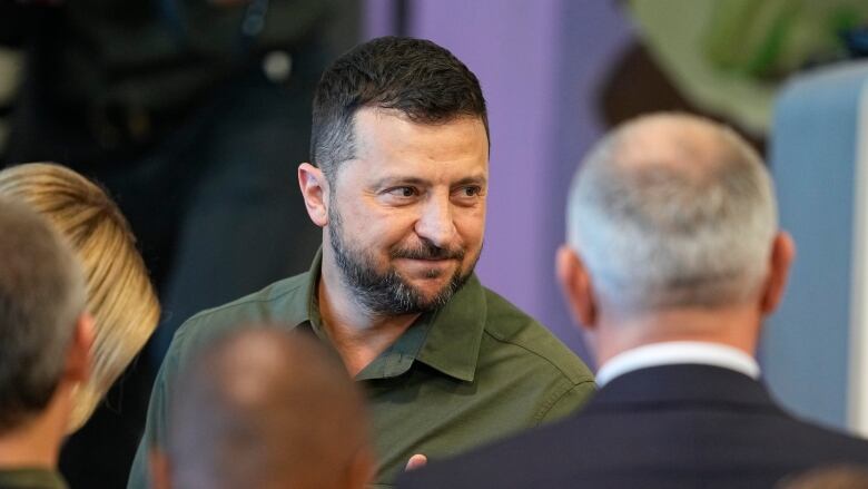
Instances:
[[[573,180],[568,239],[620,313],[752,300],[777,232],[771,179],[729,128],[657,114],[601,140]]]

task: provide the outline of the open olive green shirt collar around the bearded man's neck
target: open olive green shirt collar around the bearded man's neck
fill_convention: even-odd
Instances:
[[[286,321],[293,326],[308,325],[327,342],[317,302],[322,261],[319,250],[308,272],[307,291],[292,299],[287,307],[292,313]],[[363,369],[356,380],[397,376],[418,360],[457,380],[473,381],[486,314],[485,290],[476,274],[472,274],[444,306],[422,314],[392,346]]]

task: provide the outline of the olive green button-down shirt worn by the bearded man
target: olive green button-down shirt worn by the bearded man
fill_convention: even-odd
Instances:
[[[308,273],[204,311],[178,330],[154,387],[129,488],[147,487],[146,448],[165,440],[171,387],[193,351],[251,321],[308,327],[327,342],[316,301],[319,265],[317,255]],[[382,487],[414,453],[461,453],[559,419],[594,392],[579,358],[475,276],[448,304],[420,316],[356,381],[367,393]]]

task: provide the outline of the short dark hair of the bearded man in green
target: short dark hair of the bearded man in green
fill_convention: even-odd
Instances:
[[[329,180],[354,157],[353,119],[363,107],[424,124],[477,117],[489,134],[480,80],[452,52],[424,39],[377,38],[338,58],[316,87],[310,159]]]

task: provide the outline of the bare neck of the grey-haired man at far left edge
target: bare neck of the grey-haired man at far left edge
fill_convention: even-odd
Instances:
[[[71,408],[71,388],[58,385],[45,411],[0,436],[0,469],[57,467]]]

